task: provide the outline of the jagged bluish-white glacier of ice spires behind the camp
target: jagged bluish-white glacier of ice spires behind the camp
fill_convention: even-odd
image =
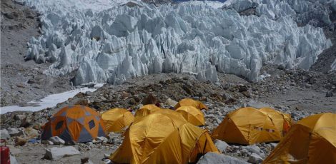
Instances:
[[[237,11],[249,4],[218,9],[220,4],[194,2],[21,2],[41,13],[42,34],[29,41],[26,59],[52,63],[45,71],[50,76],[76,71],[74,85],[170,72],[201,81],[218,81],[217,72],[255,81],[265,63],[308,69],[331,46],[321,28],[297,26],[290,14],[240,16]],[[279,8],[292,12],[288,5]]]

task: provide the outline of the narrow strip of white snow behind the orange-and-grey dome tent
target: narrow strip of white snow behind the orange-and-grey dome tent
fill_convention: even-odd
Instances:
[[[99,85],[102,86],[102,85]],[[97,86],[97,87],[99,87]],[[64,93],[56,93],[49,96],[46,96],[45,98],[42,98],[39,101],[31,101],[28,104],[31,104],[31,106],[3,106],[0,107],[0,114],[4,114],[7,112],[13,112],[13,111],[40,111],[44,108],[52,108],[57,105],[57,103],[62,103],[68,98],[74,97],[77,93],[85,93],[87,91],[96,91],[97,88],[76,88],[71,91],[66,91]]]

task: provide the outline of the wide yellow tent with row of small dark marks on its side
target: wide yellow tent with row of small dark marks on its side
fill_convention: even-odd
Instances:
[[[287,117],[273,109],[240,108],[224,118],[212,138],[243,145],[279,141],[284,134],[284,124],[290,126],[291,123],[284,116]]]

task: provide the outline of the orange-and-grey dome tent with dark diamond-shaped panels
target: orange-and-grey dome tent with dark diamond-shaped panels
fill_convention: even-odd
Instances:
[[[44,125],[41,139],[59,136],[66,142],[86,143],[105,135],[105,125],[99,113],[86,106],[66,106]]]

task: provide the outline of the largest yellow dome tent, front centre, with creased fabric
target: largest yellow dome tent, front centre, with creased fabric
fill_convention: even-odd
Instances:
[[[207,130],[172,113],[158,111],[134,122],[110,156],[112,162],[188,163],[195,162],[199,154],[219,153]]]

